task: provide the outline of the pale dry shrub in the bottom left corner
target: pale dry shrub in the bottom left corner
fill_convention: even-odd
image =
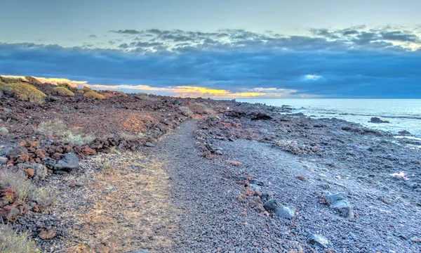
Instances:
[[[3,253],[39,253],[34,241],[27,233],[15,233],[5,224],[0,224],[0,252]]]

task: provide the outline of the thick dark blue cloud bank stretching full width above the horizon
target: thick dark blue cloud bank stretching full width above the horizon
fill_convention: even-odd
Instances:
[[[213,45],[212,50],[182,46],[176,52],[154,53],[142,46],[162,45],[140,44],[133,51],[121,51],[0,44],[0,70],[105,85],[192,85],[231,91],[262,87],[326,97],[421,98],[421,50],[385,50],[382,41],[377,41],[381,49],[347,48],[338,41],[326,44],[321,37],[279,37],[265,42],[271,45],[267,47],[261,43],[241,40],[234,46]],[[306,79],[307,75],[320,78]]]

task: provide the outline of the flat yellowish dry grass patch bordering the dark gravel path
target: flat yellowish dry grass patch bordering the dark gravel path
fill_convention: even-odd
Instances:
[[[112,156],[113,167],[97,171],[90,185],[95,204],[76,220],[81,227],[74,231],[81,238],[76,247],[83,252],[109,252],[110,248],[112,252],[139,248],[169,252],[180,211],[171,202],[170,179],[163,164],[138,153]],[[104,159],[109,154],[93,157],[89,163],[101,164]],[[132,165],[138,170],[133,171]],[[105,189],[109,189],[107,194]],[[82,225],[86,223],[90,226]]]

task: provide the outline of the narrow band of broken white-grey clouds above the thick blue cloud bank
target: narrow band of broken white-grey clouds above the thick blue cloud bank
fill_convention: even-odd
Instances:
[[[197,50],[232,50],[235,48],[267,48],[290,50],[389,50],[406,51],[408,48],[392,44],[391,41],[416,42],[420,38],[402,27],[385,26],[368,30],[365,25],[342,30],[310,29],[312,36],[283,36],[273,32],[257,33],[241,29],[218,30],[217,32],[192,32],[183,30],[119,30],[123,35],[120,48],[133,52]],[[128,34],[135,34],[127,41]],[[118,39],[114,39],[118,41]],[[135,42],[140,42],[136,44]],[[135,46],[136,45],[136,46]]]

